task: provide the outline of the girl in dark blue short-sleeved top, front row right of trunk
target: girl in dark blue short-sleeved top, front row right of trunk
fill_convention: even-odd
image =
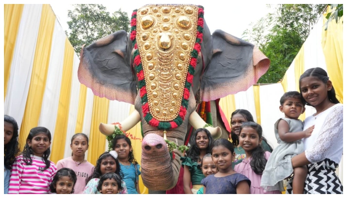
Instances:
[[[201,180],[204,194],[249,194],[251,181],[232,169],[235,153],[231,142],[223,138],[215,140],[211,155],[219,172]]]

